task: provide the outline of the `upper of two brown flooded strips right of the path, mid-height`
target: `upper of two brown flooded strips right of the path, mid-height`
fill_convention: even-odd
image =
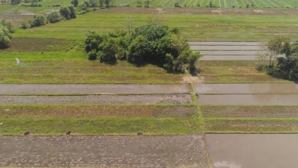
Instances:
[[[195,84],[199,94],[298,94],[298,84]]]

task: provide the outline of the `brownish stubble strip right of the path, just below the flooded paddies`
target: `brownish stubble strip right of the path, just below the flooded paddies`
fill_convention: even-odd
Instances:
[[[297,106],[201,106],[207,118],[292,118]]]

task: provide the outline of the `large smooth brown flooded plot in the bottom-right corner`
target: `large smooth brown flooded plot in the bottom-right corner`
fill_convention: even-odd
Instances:
[[[296,168],[297,134],[207,134],[213,168]]]

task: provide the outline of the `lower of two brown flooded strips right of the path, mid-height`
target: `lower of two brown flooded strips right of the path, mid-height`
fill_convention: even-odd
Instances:
[[[298,105],[298,94],[200,94],[201,105]]]

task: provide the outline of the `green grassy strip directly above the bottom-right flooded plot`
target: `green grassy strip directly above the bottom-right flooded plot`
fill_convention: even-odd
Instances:
[[[298,133],[298,118],[205,118],[206,133]]]

